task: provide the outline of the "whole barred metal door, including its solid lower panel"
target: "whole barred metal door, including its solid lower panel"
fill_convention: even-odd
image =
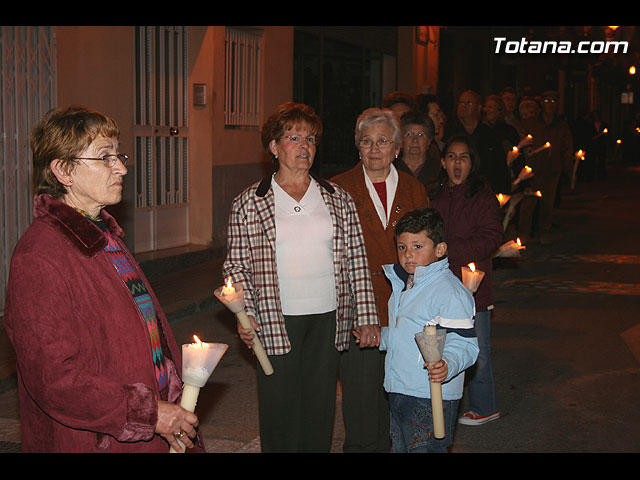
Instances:
[[[136,27],[135,250],[188,243],[188,27]]]

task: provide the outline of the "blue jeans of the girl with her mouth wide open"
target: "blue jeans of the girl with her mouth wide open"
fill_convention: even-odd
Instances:
[[[478,415],[491,415],[498,410],[496,388],[491,362],[491,311],[477,312],[474,323],[480,353],[466,376],[469,392],[469,410]]]

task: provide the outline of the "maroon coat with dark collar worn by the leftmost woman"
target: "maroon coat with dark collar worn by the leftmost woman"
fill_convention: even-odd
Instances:
[[[116,237],[122,230],[105,211]],[[163,452],[154,433],[158,388],[149,333],[103,248],[105,235],[49,195],[11,261],[5,326],[17,357],[23,452]],[[131,254],[120,242],[121,247]],[[170,377],[182,391],[180,350],[155,303]]]

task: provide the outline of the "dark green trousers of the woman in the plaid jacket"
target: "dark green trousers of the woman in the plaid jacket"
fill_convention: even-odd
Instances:
[[[269,356],[272,375],[258,367],[262,452],[328,453],[338,381],[336,313],[284,320],[291,351]]]

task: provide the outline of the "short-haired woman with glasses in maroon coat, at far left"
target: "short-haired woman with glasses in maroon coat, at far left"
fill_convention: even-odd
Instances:
[[[118,136],[84,107],[51,111],[31,133],[34,220],[13,253],[5,309],[23,452],[182,451],[176,437],[201,449],[198,418],[176,404],[180,350],[103,210],[127,173]]]

